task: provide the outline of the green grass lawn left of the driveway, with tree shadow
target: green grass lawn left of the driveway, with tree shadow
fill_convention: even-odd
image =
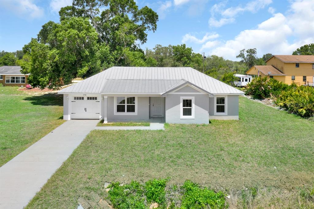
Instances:
[[[62,96],[0,87],[0,166],[61,125]]]

